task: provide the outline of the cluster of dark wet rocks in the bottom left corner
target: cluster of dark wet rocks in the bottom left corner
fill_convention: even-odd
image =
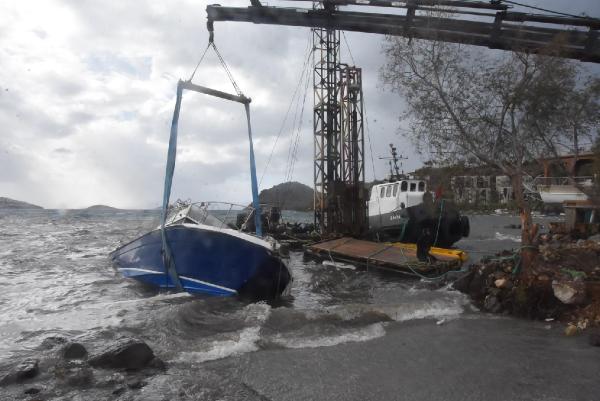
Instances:
[[[14,366],[0,367],[7,372],[0,377],[3,400],[63,399],[89,388],[118,398],[137,392],[167,368],[144,341],[131,337],[89,353],[81,343],[48,337],[31,354]]]

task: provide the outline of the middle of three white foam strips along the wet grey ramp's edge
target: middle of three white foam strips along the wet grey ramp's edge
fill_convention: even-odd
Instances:
[[[318,348],[332,347],[334,345],[348,342],[364,342],[383,337],[384,335],[385,328],[383,327],[383,324],[374,323],[363,328],[347,331],[333,336],[298,338],[277,335],[271,339],[271,342],[285,348]]]

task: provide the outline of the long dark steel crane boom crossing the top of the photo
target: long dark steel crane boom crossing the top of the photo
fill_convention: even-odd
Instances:
[[[383,1],[383,0],[328,0],[332,5],[370,5],[377,7],[404,8],[406,13],[342,11],[335,7],[322,9],[287,8],[266,6],[257,0],[249,7],[223,7],[209,5],[206,8],[208,29],[213,31],[217,21],[241,21],[255,24],[303,26],[309,28],[336,29],[365,33],[404,36],[416,39],[440,40],[464,43],[493,49],[543,52],[556,46],[561,57],[600,63],[600,20],[594,18],[555,17],[508,11],[499,2],[465,1]],[[384,4],[385,3],[385,4]],[[446,16],[418,14],[416,11],[432,10],[435,4],[444,8]],[[477,19],[454,18],[473,14],[461,3],[479,4],[478,9],[494,10],[495,13],[479,13]],[[490,7],[483,7],[489,4]],[[435,9],[439,10],[439,9]],[[562,28],[557,28],[557,25]],[[584,30],[584,28],[587,28]]]

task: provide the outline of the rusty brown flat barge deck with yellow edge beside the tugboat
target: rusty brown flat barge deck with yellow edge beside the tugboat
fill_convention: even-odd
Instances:
[[[362,266],[394,270],[410,276],[435,276],[459,269],[467,260],[467,254],[457,249],[431,248],[433,262],[417,259],[414,244],[383,243],[349,237],[318,242],[308,246],[309,256]]]

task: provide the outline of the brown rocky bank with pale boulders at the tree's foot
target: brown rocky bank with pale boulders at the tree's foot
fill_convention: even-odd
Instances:
[[[600,237],[542,235],[537,251],[527,274],[518,254],[506,251],[471,265],[453,287],[483,311],[557,321],[566,335],[585,331],[600,345]]]

